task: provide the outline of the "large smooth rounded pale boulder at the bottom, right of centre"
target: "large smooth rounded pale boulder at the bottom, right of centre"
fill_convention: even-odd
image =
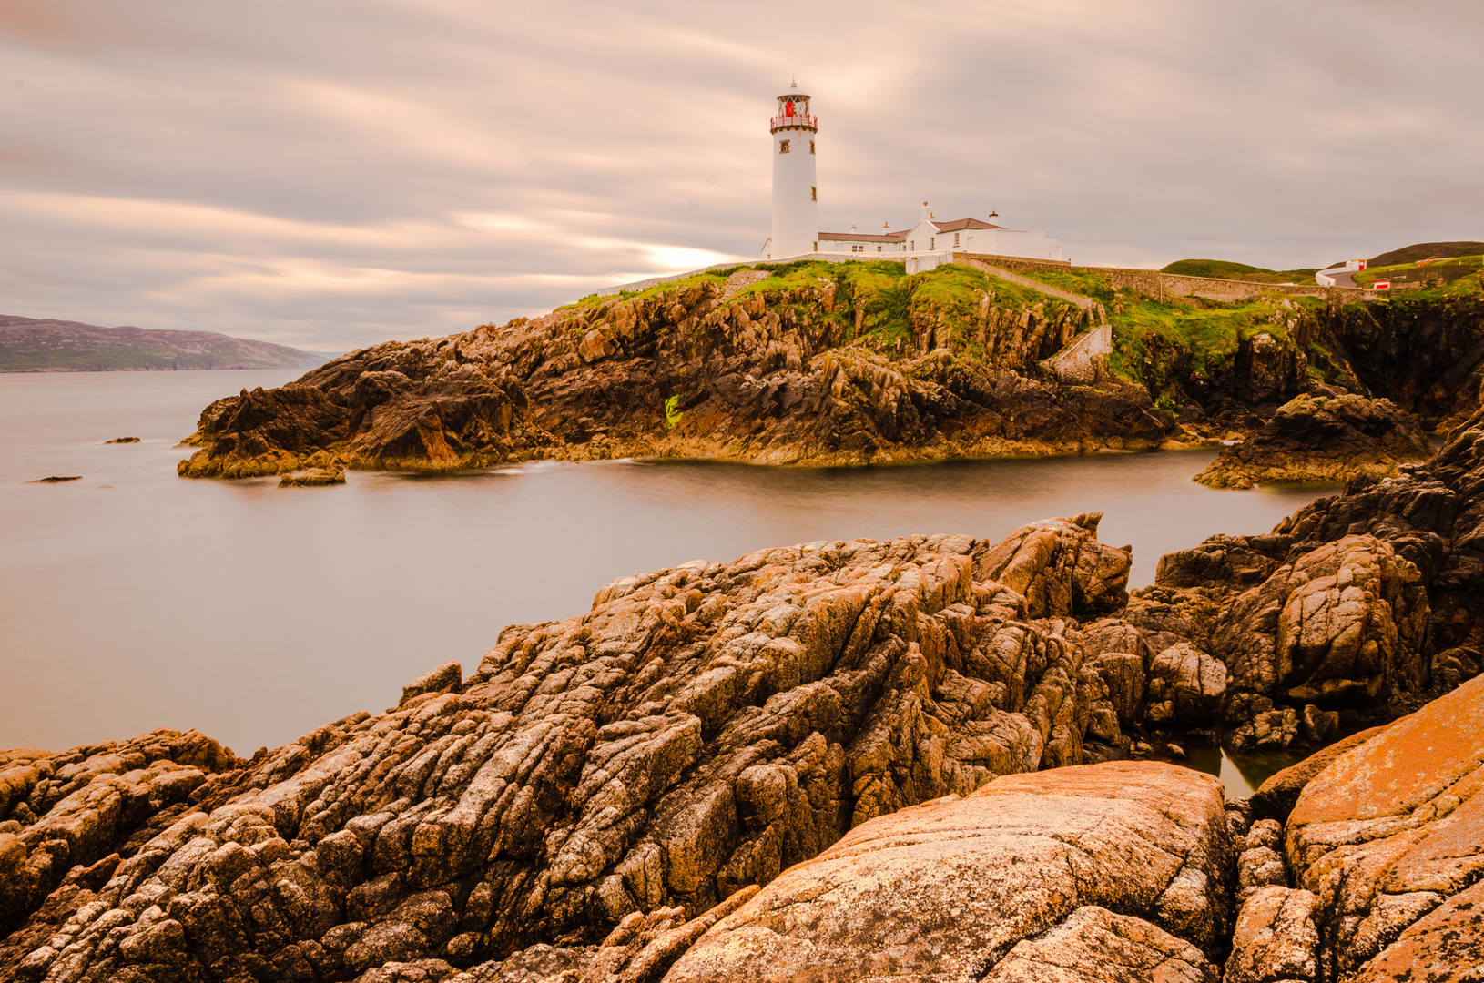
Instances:
[[[665,979],[1147,980],[1163,964],[1214,982],[1221,805],[1212,777],[1152,762],[997,778],[856,827]]]

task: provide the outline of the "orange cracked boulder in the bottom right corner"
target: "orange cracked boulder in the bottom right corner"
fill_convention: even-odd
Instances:
[[[1325,979],[1463,980],[1484,964],[1484,679],[1345,752],[1285,853],[1318,897]]]

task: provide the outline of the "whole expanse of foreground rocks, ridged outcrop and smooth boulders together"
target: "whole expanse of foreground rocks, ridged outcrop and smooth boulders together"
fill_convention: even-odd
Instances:
[[[1223,716],[1322,743],[1447,684],[1416,673],[1441,612],[1404,540],[1208,541],[1129,599],[1097,525],[622,578],[252,761],[174,731],[4,752],[0,976],[1319,983],[1472,958],[1484,749],[1439,727],[1484,682],[1245,804],[1122,761]]]

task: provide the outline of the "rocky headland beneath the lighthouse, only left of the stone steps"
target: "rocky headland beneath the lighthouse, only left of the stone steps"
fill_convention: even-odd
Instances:
[[[181,474],[632,455],[781,464],[1147,448],[1147,391],[1039,362],[1097,310],[965,267],[800,262],[389,342],[218,400]]]

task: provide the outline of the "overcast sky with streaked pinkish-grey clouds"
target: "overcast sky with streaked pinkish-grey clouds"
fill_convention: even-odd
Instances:
[[[928,199],[1076,262],[1484,239],[1484,3],[0,0],[0,313],[341,351]]]

